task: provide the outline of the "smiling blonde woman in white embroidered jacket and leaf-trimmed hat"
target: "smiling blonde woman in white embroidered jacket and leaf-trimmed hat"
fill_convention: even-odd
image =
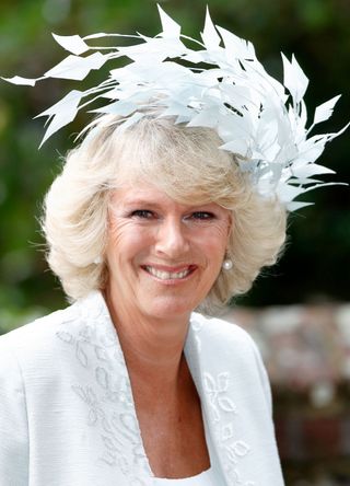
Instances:
[[[167,43],[175,26],[161,14]],[[208,108],[203,96],[200,106],[191,94],[180,107],[183,117],[185,108],[195,113],[189,124],[168,113],[160,85],[137,81],[132,94],[130,72],[127,95],[138,108],[105,109],[46,197],[48,262],[74,303],[0,340],[0,483],[283,485],[260,355],[244,331],[208,314],[276,262],[294,187],[287,173],[298,176],[302,157],[277,177],[281,151],[270,165],[236,152],[250,143],[240,132],[253,109],[246,97],[240,109],[223,99],[228,117],[242,118],[233,139],[228,118],[217,116],[217,129],[208,119],[190,126]],[[113,100],[126,112],[121,78]],[[219,105],[212,86],[208,96]],[[260,124],[273,112],[267,99]],[[51,132],[67,121],[61,115],[56,109]]]

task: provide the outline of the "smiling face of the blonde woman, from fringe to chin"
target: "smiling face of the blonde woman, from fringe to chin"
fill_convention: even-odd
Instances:
[[[224,258],[230,211],[183,205],[149,184],[115,190],[108,221],[108,291],[153,319],[186,316],[206,298]]]

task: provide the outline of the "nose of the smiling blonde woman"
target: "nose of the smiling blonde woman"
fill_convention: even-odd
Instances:
[[[155,251],[170,258],[179,258],[189,248],[187,228],[182,220],[168,218],[160,224],[156,234]]]

